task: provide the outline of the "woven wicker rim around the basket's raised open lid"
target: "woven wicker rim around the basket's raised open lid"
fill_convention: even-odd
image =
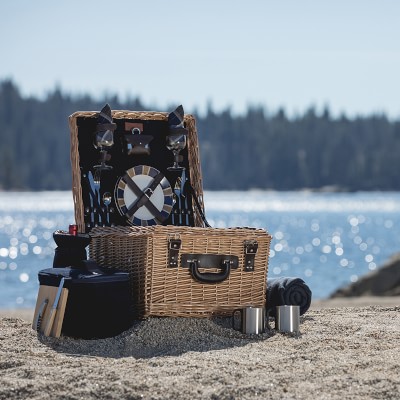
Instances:
[[[71,135],[71,167],[72,167],[72,194],[75,210],[75,221],[78,225],[80,232],[85,232],[84,222],[84,204],[82,199],[82,185],[80,173],[80,160],[79,160],[79,140],[78,140],[78,124],[77,119],[84,118],[97,118],[97,111],[78,111],[69,117],[69,127]],[[113,119],[132,119],[132,120],[158,120],[167,121],[168,113],[155,112],[155,111],[112,111]],[[199,203],[204,210],[203,201],[203,178],[201,173],[200,156],[199,156],[199,143],[196,130],[195,118],[188,114],[185,115],[185,125],[189,131],[187,148],[188,148],[188,162],[190,166],[190,176],[192,186],[197,194]],[[195,226],[202,227],[204,222],[196,208],[194,212]]]

